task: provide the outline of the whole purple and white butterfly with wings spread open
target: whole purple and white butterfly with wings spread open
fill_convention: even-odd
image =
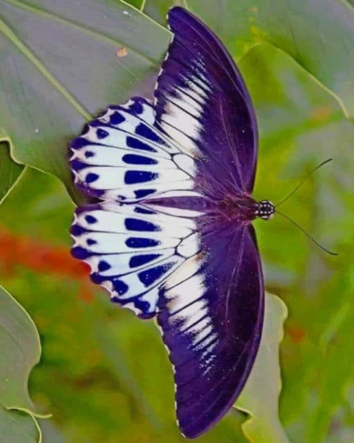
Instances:
[[[180,430],[197,437],[233,406],[260,345],[264,284],[255,202],[258,131],[242,76],[219,39],[183,8],[155,100],[110,106],[71,144],[72,254],[112,302],[157,316],[174,366]]]

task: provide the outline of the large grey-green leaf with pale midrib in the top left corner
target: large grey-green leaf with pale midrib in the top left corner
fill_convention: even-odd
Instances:
[[[56,175],[78,200],[67,142],[144,87],[169,32],[116,0],[0,0],[0,10],[0,130],[17,162]]]

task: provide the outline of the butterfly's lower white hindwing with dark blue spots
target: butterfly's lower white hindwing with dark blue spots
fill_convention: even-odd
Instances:
[[[167,279],[201,249],[194,219],[115,202],[76,211],[71,235],[72,254],[90,265],[92,281],[145,318]]]

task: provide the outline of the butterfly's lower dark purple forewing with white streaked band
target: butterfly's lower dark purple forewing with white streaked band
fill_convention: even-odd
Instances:
[[[253,227],[221,225],[201,239],[199,259],[171,276],[158,323],[170,351],[181,431],[212,427],[241,392],[258,351],[264,288]]]

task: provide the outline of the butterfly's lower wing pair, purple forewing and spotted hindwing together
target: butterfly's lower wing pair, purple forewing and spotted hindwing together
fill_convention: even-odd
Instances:
[[[158,313],[174,365],[181,431],[196,437],[232,406],[262,330],[264,288],[253,227],[210,229],[205,214],[102,202],[76,211],[74,257],[113,302]],[[187,213],[188,214],[188,213]]]

